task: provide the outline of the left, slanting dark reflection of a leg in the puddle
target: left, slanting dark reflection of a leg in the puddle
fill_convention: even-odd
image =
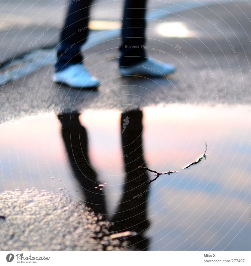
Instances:
[[[95,189],[99,184],[97,174],[88,156],[88,135],[79,122],[79,114],[58,116],[62,126],[62,136],[69,161],[78,185],[81,187],[85,202],[94,213],[105,214],[105,200],[102,190]]]

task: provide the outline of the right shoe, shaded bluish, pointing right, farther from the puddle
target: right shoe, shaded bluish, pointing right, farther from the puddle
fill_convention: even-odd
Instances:
[[[176,69],[173,65],[159,63],[150,58],[133,66],[120,67],[120,74],[122,76],[161,77],[172,74],[175,71]]]

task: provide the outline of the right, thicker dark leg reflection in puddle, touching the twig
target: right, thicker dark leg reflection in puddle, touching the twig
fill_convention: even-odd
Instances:
[[[142,111],[132,110],[121,115],[121,138],[125,167],[125,184],[120,204],[112,219],[114,232],[134,231],[131,244],[138,249],[147,249],[148,239],[144,231],[149,227],[147,220],[148,175],[138,166],[146,167],[142,145]]]

